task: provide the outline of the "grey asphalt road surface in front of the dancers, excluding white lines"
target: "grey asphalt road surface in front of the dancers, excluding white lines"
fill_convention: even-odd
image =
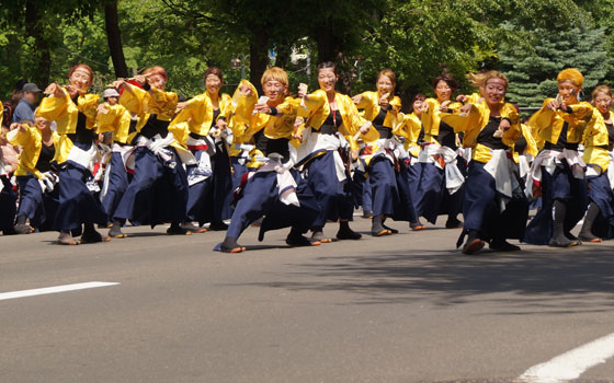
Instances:
[[[162,227],[2,236],[0,293],[120,285],[0,300],[0,382],[514,382],[614,333],[613,242],[469,257],[458,230],[393,225],[308,248],[250,228],[235,255]],[[614,359],[580,379],[614,382]]]

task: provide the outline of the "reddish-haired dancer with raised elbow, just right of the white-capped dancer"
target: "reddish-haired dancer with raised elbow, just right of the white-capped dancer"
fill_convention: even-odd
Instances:
[[[156,224],[170,221],[168,234],[192,234],[181,228],[185,221],[187,177],[182,163],[195,163],[190,151],[182,148],[169,134],[177,107],[177,93],[164,91],[167,72],[162,67],[147,69],[136,80],[143,89],[124,80],[113,88],[124,92],[120,104],[139,116],[134,140],[134,177],[122,197],[110,236],[124,237],[122,225],[126,220]]]

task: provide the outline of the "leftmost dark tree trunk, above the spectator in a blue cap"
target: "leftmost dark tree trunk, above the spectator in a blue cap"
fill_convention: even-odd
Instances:
[[[31,72],[30,81],[36,83],[38,88],[46,86],[49,83],[52,72],[52,54],[43,28],[41,27],[41,15],[36,9],[35,1],[27,0],[25,2],[25,34],[34,37],[34,55],[36,58],[36,69]]]

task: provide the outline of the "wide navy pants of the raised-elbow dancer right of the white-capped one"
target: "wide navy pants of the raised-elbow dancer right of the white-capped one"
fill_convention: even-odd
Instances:
[[[135,174],[115,210],[115,219],[148,222],[151,227],[185,221],[187,177],[174,149],[167,149],[177,161],[172,169],[149,149],[136,149]]]

